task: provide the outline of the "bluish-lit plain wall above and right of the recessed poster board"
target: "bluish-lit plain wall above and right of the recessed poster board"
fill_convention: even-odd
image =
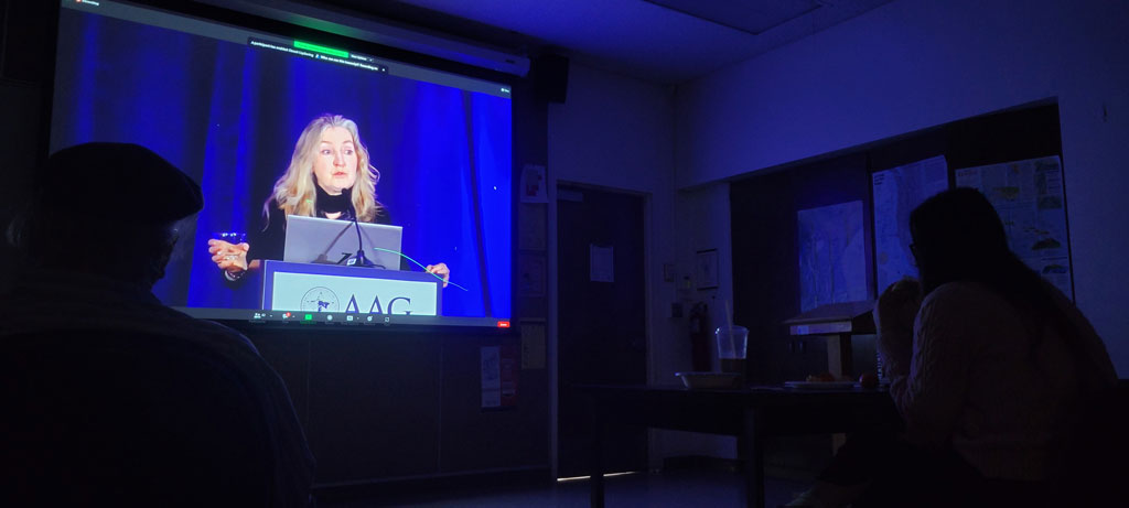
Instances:
[[[1129,377],[1129,2],[898,0],[680,87],[679,187],[1057,97],[1079,307]]]

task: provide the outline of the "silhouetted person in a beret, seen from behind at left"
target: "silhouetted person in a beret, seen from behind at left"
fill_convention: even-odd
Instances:
[[[238,332],[154,297],[200,186],[137,144],[52,155],[0,297],[0,505],[305,506],[314,461]]]

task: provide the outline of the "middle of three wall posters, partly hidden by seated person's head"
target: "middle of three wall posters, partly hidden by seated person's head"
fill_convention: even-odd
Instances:
[[[874,247],[878,292],[903,277],[917,278],[909,245],[910,211],[948,189],[945,156],[918,160],[870,175],[874,195]]]

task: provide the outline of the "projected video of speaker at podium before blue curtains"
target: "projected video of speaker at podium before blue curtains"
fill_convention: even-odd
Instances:
[[[165,304],[509,317],[508,89],[107,12],[62,9],[52,149],[135,142],[201,184]]]

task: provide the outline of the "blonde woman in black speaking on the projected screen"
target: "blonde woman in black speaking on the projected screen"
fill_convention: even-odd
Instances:
[[[369,163],[357,123],[341,115],[321,115],[303,129],[290,165],[263,203],[266,225],[262,234],[252,243],[208,240],[211,260],[235,281],[248,270],[257,270],[260,260],[281,257],[287,216],[388,224],[388,210],[376,200],[380,172]],[[426,270],[441,277],[447,286],[450,270],[445,263],[429,264]]]

